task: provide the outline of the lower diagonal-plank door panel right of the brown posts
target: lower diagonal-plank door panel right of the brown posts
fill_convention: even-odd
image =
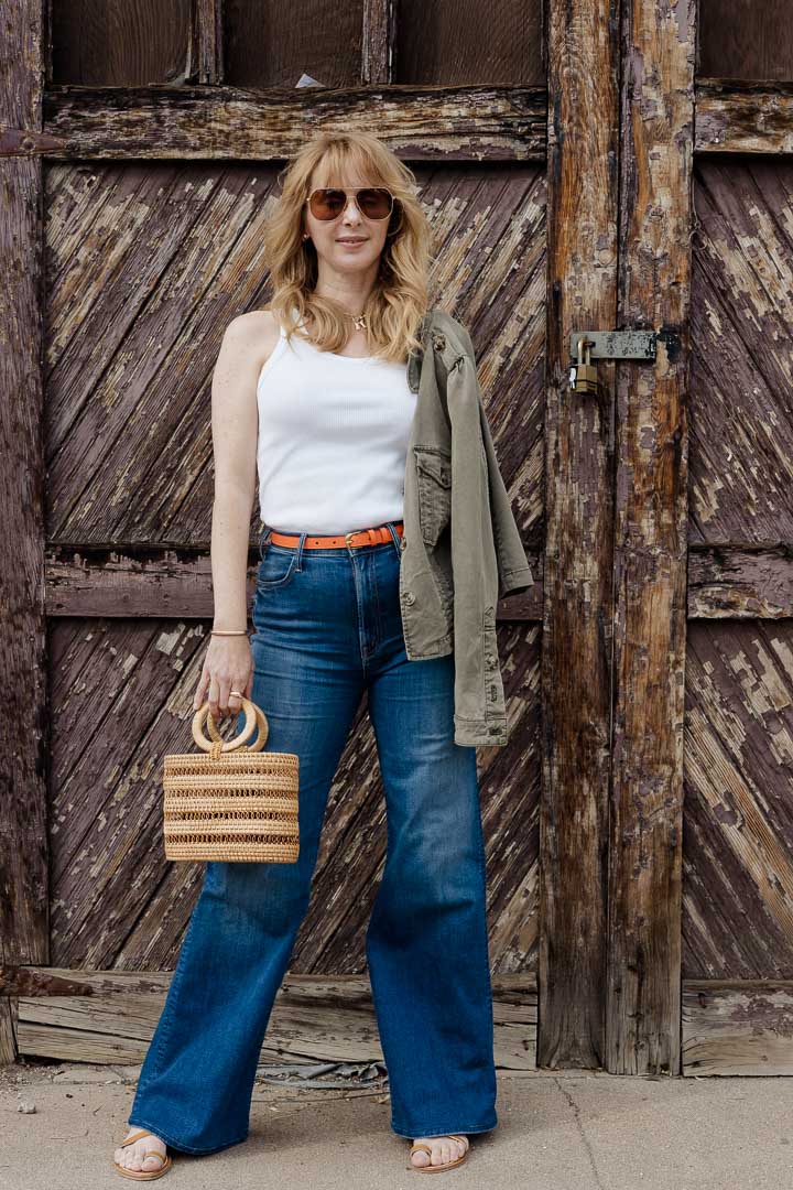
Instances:
[[[793,621],[688,626],[684,978],[793,971]]]

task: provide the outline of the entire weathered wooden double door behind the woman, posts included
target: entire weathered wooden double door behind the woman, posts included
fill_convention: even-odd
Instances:
[[[778,1073],[783,5],[308,7],[297,30],[271,0],[7,20],[0,1061],[134,1063],[151,1038],[201,879],[159,807],[212,618],[212,370],[266,302],[278,170],[334,124],[416,173],[537,577],[498,607],[511,738],[478,753],[497,1065]],[[573,393],[581,330],[650,330],[655,357]],[[263,1060],[382,1059],[384,852],[364,702]]]

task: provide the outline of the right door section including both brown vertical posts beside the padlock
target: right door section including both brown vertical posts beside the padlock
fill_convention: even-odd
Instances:
[[[793,1069],[787,17],[549,8],[539,1065]]]

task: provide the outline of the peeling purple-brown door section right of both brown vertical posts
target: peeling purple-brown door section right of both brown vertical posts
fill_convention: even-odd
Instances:
[[[793,35],[701,0],[682,1072],[793,1072]]]

